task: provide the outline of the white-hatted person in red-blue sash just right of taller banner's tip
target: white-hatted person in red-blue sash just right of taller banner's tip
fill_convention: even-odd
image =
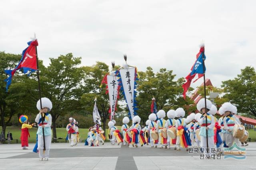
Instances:
[[[127,130],[127,131],[131,131],[132,133],[132,147],[138,147],[138,143],[139,143],[139,135],[140,135],[140,131],[141,131],[141,127],[140,127],[140,117],[138,115],[134,116],[132,119],[132,126]]]

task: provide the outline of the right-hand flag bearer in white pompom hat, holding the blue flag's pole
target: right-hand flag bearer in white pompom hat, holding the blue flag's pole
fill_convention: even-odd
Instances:
[[[202,98],[199,100],[198,104],[196,105],[196,108],[200,113],[202,113],[202,116],[199,119],[200,124],[200,139],[201,139],[201,147],[206,149],[207,143],[206,143],[206,133],[208,132],[208,148],[214,148],[214,126],[215,126],[215,120],[214,117],[208,113],[212,107],[212,102],[208,99],[206,99],[206,108],[205,108],[205,99]],[[207,124],[206,124],[207,119]],[[207,132],[206,132],[207,130]],[[210,152],[208,152],[210,154]]]

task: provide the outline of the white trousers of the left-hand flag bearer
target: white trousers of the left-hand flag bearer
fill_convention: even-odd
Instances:
[[[38,147],[37,149],[39,150],[39,158],[49,158],[49,152],[51,148],[51,139],[52,136],[45,136],[43,138],[43,135],[38,135]],[[44,150],[44,140],[45,140],[45,151]]]

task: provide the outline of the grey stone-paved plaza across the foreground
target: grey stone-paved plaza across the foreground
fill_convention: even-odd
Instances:
[[[38,154],[32,152],[35,144],[22,150],[20,144],[0,145],[0,169],[76,169],[76,170],[170,170],[170,169],[218,169],[218,170],[256,170],[256,143],[249,143],[246,159],[200,160],[198,154],[188,154],[186,150],[134,148],[121,145],[74,147],[68,143],[52,143],[48,161],[39,161]]]

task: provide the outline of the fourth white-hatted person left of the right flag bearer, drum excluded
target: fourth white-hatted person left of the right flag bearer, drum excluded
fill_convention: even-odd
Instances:
[[[176,124],[176,120],[174,119],[175,118],[175,110],[169,110],[167,112],[167,117],[168,117],[168,120],[166,121],[164,127],[166,129],[170,129],[172,127],[175,127],[175,124]],[[167,148],[168,149],[170,149],[170,144],[172,144],[172,145],[176,144],[176,139],[170,138],[170,136],[167,133],[167,145],[168,145]],[[174,147],[174,150],[176,150],[176,147]]]

